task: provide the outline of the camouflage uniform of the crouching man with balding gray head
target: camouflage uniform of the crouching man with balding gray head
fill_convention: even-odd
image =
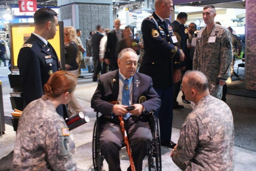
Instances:
[[[228,105],[201,98],[180,130],[172,160],[181,170],[234,170],[234,124]]]

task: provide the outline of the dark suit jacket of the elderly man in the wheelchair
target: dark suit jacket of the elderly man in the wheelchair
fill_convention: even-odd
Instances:
[[[140,82],[138,87],[136,82]],[[119,91],[118,70],[102,74],[99,77],[98,87],[92,97],[91,107],[101,112],[104,116],[111,116],[113,105],[109,101],[116,101]],[[152,79],[141,73],[135,73],[133,77],[132,104],[139,103],[140,97],[144,95],[146,101],[141,103],[148,112],[160,108],[161,100],[159,95],[152,87]],[[116,122],[117,117],[112,119]],[[118,121],[117,121],[118,122]]]

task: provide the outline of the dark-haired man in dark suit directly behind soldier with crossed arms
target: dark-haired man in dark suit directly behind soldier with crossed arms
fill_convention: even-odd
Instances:
[[[188,14],[186,12],[180,12],[177,16],[177,19],[172,22],[172,28],[173,31],[178,33],[181,40],[180,40],[180,48],[183,50],[183,52],[186,52],[187,49],[187,43],[186,43],[186,33],[185,33],[185,27],[184,24],[188,20]],[[181,62],[181,70],[182,72],[185,71],[186,68],[186,60]],[[173,84],[173,108],[179,109],[184,108],[183,105],[179,105],[177,101],[178,94],[180,92],[180,84],[181,81]]]

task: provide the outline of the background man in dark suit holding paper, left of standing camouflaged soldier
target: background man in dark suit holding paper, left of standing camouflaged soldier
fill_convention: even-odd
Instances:
[[[187,44],[187,48],[185,51],[185,55],[186,55],[186,70],[192,70],[193,69],[193,57],[194,57],[194,52],[196,49],[196,46],[191,45],[192,39],[197,37],[197,34],[195,34],[195,31],[197,30],[197,25],[193,22],[191,22],[188,26],[188,33],[186,33],[186,44]],[[185,98],[185,94],[182,91],[182,101],[183,103],[187,103],[190,104],[190,102],[188,100],[186,100]]]

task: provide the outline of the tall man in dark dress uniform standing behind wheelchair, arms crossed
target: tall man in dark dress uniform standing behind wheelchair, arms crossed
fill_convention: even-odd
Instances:
[[[139,72],[153,80],[153,87],[162,99],[158,111],[160,121],[161,145],[173,148],[172,99],[173,82],[181,80],[180,61],[184,53],[176,46],[171,22],[168,19],[173,11],[172,0],[155,1],[155,12],[142,22],[141,30],[144,41],[144,56]]]

